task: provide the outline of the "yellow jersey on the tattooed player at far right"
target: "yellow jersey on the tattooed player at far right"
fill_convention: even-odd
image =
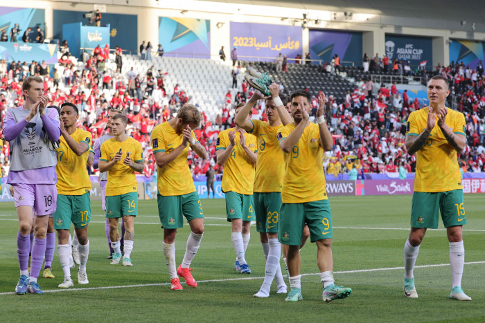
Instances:
[[[423,132],[428,113],[429,107],[425,107],[409,114],[406,136],[419,136]],[[454,133],[466,136],[463,113],[448,109],[445,122]],[[462,188],[457,151],[446,140],[436,116],[436,126],[425,145],[416,153],[414,192],[434,193]]]

